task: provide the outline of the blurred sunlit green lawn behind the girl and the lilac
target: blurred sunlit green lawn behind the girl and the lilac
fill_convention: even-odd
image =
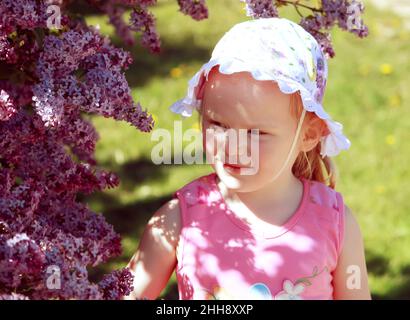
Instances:
[[[176,1],[160,1],[153,12],[162,53],[151,55],[140,46],[131,50],[135,61],[127,77],[133,96],[155,115],[156,128],[172,128],[179,117],[168,107],[185,95],[188,80],[208,61],[223,33],[247,20],[239,1],[207,3],[209,19],[197,22],[179,13]],[[292,10],[282,13],[295,17]],[[340,172],[337,189],[361,225],[373,297],[410,298],[410,192],[405,184],[410,178],[410,33],[403,31],[398,17],[369,5],[365,20],[370,28],[367,39],[333,32],[336,57],[329,63],[324,105],[344,124],[352,141],[351,149],[335,158]],[[105,17],[90,14],[87,21],[112,35]],[[115,37],[114,42],[120,44]],[[180,69],[180,76],[171,75],[173,68]],[[381,72],[383,68],[387,74]],[[86,201],[114,225],[124,247],[121,257],[92,270],[97,279],[103,272],[123,267],[153,212],[175,190],[211,168],[155,166],[150,160],[154,145],[150,134],[103,117],[92,120],[101,136],[96,151],[99,164],[118,173],[121,185]],[[184,128],[196,121],[196,117],[185,120]],[[174,276],[162,297],[177,299]]]

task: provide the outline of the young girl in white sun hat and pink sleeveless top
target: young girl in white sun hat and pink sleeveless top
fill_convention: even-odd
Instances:
[[[335,190],[330,157],[350,141],[322,107],[326,78],[318,43],[287,19],[225,33],[171,110],[199,111],[204,136],[259,129],[258,168],[241,174],[253,164],[229,155],[243,150],[221,159],[204,140],[216,172],[153,215],[126,299],[158,298],[174,270],[180,299],[370,299],[360,229]]]

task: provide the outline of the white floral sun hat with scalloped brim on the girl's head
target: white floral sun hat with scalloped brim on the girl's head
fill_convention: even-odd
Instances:
[[[285,18],[261,18],[234,25],[216,44],[211,59],[189,80],[187,95],[170,106],[172,112],[190,117],[201,107],[195,88],[201,77],[219,65],[223,74],[247,71],[256,80],[272,80],[285,94],[300,92],[303,107],[323,119],[329,134],[321,138],[321,155],[335,156],[351,143],[343,125],[333,121],[322,106],[328,66],[316,39],[300,25]]]

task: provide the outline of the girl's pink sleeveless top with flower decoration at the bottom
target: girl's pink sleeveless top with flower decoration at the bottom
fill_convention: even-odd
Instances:
[[[342,195],[301,178],[303,198],[282,226],[232,212],[216,173],[175,193],[181,234],[175,268],[179,299],[333,299],[332,273],[344,237]]]

